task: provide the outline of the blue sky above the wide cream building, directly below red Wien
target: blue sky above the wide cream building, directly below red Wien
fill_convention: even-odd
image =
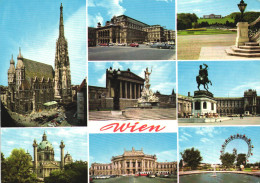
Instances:
[[[89,134],[89,166],[91,163],[111,163],[112,156],[122,155],[124,149],[141,150],[156,155],[158,162],[177,161],[176,133]]]

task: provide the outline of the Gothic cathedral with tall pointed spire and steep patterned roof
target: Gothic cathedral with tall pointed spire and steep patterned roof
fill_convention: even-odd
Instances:
[[[44,104],[71,99],[68,43],[64,36],[63,7],[60,6],[59,38],[56,43],[55,70],[48,64],[24,58],[19,49],[17,64],[13,56],[8,69],[7,107],[17,113],[40,111]]]

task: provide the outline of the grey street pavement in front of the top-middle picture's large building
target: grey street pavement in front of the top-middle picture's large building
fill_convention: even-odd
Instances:
[[[97,46],[88,48],[89,60],[175,60],[175,49],[150,48],[146,45]]]

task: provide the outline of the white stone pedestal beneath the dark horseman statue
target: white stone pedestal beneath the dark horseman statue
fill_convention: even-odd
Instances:
[[[194,91],[192,113],[195,118],[213,118],[217,113],[217,101],[211,92]]]

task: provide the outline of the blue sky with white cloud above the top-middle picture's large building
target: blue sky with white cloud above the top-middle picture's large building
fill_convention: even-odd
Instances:
[[[148,25],[175,30],[174,0],[88,0],[88,26],[102,25],[114,15],[127,15]]]

